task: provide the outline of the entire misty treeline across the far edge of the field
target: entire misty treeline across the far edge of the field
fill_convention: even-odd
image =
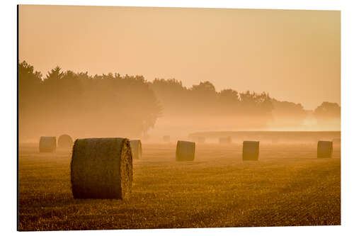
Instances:
[[[307,117],[299,103],[277,101],[264,92],[218,92],[210,82],[186,88],[176,79],[147,82],[142,76],[91,76],[59,67],[43,76],[25,61],[19,63],[18,76],[20,136],[25,138],[61,133],[144,135],[160,117],[184,117],[200,123],[206,118],[219,122],[218,117],[227,117],[230,128],[240,129],[265,128],[277,119],[301,125]],[[340,107],[323,103],[314,115],[322,121],[338,118]]]

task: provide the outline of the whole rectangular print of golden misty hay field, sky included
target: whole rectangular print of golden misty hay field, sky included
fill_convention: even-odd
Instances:
[[[19,6],[18,230],[341,225],[340,16]]]

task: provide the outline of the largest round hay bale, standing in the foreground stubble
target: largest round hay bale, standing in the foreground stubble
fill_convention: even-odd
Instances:
[[[119,137],[76,140],[71,179],[74,198],[128,198],[132,189],[129,140]]]

